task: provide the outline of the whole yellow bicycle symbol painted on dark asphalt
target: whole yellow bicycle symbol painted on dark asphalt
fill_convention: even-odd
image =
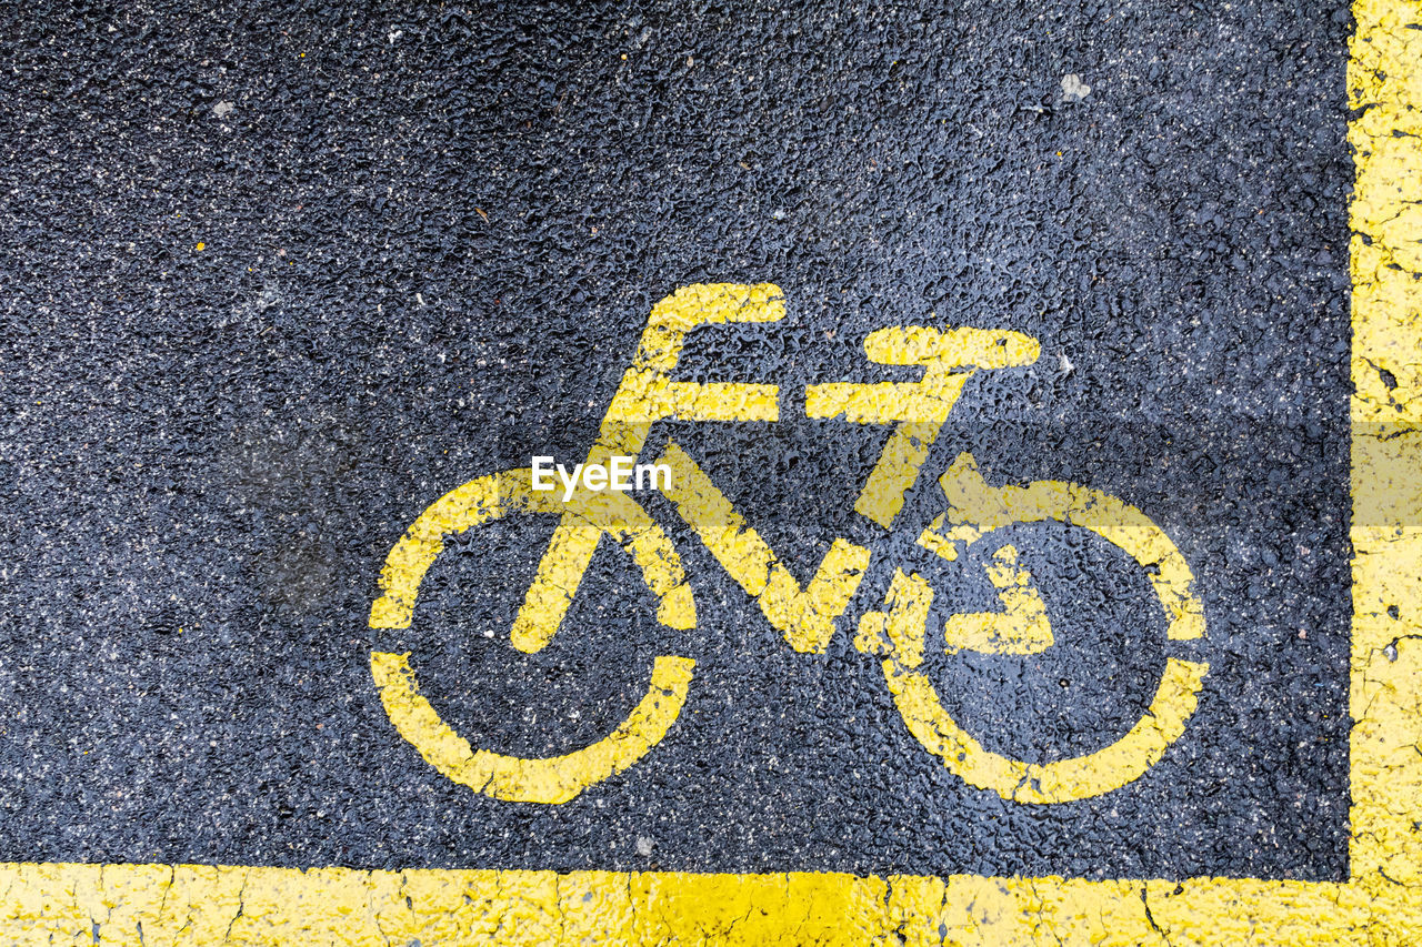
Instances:
[[[613,455],[638,456],[651,427],[668,418],[776,421],[776,385],[674,381],[671,373],[687,334],[695,327],[771,323],[784,316],[784,296],[769,283],[688,286],[657,303],[633,364],[603,417],[587,464],[606,465]],[[894,326],[870,333],[865,353],[879,364],[921,367],[923,375],[914,382],[806,385],[805,411],[811,418],[894,425],[855,502],[857,513],[887,530],[968,378],[978,370],[1030,365],[1037,361],[1039,346],[1028,336],[1005,330]],[[673,469],[671,486],[664,493],[677,513],[727,573],[755,597],[785,641],[801,653],[825,651],[836,620],[869,567],[870,550],[836,539],[815,577],[801,587],[685,451],[668,441],[657,464]],[[667,535],[636,501],[620,492],[579,491],[563,502],[556,492],[532,489],[530,479],[528,468],[481,476],[425,509],[385,559],[370,627],[410,627],[421,579],[444,550],[447,537],[515,513],[559,513],[557,528],[513,621],[515,648],[532,654],[553,638],[604,536],[641,570],[643,582],[657,599],[657,620],[675,630],[695,628],[695,603],[681,560]],[[958,455],[939,483],[948,505],[917,537],[919,546],[953,562],[975,543],[997,542],[994,533],[1015,523],[1054,520],[1086,529],[1148,572],[1169,640],[1203,637],[1204,610],[1192,590],[1189,565],[1170,537],[1135,506],[1058,481],[994,488],[968,454]],[[939,644],[948,653],[990,654],[1034,654],[1054,647],[1045,604],[1031,574],[1020,566],[1018,550],[1000,545],[987,572],[1003,609],[948,617]],[[927,580],[897,569],[886,610],[860,619],[855,646],[882,657],[884,680],[914,738],[973,786],[1034,803],[1096,796],[1145,774],[1180,737],[1194,712],[1209,667],[1170,657],[1145,715],[1116,742],[1045,764],[994,754],[948,717],[921,671],[931,600]],[[545,803],[567,802],[656,747],[681,712],[694,667],[691,658],[657,657],[646,695],[611,734],[562,756],[523,758],[471,747],[421,695],[408,653],[371,651],[371,674],[385,712],[429,765],[496,799]]]

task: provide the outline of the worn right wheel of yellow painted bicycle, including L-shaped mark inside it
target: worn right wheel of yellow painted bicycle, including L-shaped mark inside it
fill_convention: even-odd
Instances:
[[[948,509],[924,530],[919,545],[956,560],[997,530],[1021,523],[1057,522],[1095,533],[1146,570],[1169,641],[1204,636],[1204,607],[1194,577],[1170,537],[1143,512],[1101,491],[1059,481],[1027,486],[988,486],[970,455],[940,479]],[[1004,552],[1007,555],[1004,555]],[[1004,604],[1001,613],[953,616],[944,621],[946,647],[993,654],[1032,654],[1054,644],[1031,576],[1017,569],[1017,550],[1004,546],[990,569]],[[1139,779],[1158,764],[1194,712],[1209,665],[1180,657],[1165,661],[1145,712],[1129,731],[1094,752],[1028,762],[993,752],[953,719],[924,670],[933,589],[921,576],[896,570],[886,613],[870,613],[862,640],[882,643],[884,680],[913,737],[968,785],[1004,799],[1054,803],[1088,799]]]

